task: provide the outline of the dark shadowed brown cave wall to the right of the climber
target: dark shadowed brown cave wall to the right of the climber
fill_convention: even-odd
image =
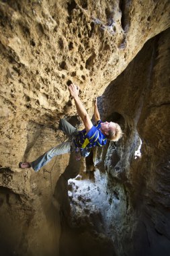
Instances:
[[[166,30],[146,42],[102,96],[103,117],[125,133],[105,158],[118,255],[169,254],[169,40]]]

